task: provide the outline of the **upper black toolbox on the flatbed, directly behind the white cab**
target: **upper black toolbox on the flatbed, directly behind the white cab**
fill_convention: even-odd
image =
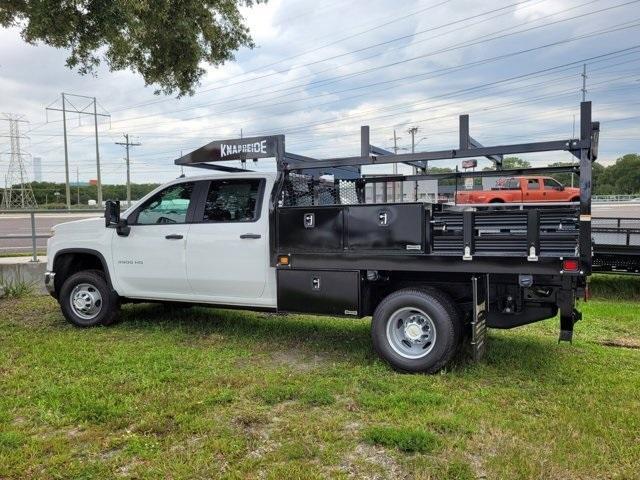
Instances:
[[[335,252],[343,249],[343,207],[293,207],[278,210],[278,251]]]

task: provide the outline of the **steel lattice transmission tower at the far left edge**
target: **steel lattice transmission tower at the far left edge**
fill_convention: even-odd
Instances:
[[[20,135],[20,123],[26,123],[21,115],[3,113],[2,120],[9,122],[9,139],[11,150],[9,154],[9,169],[5,178],[4,197],[2,206],[7,210],[13,208],[37,208],[36,198],[28,181],[29,154],[23,153],[20,140],[26,138]]]

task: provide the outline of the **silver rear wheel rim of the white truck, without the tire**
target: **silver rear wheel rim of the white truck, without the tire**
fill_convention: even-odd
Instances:
[[[436,327],[422,310],[401,308],[389,317],[387,341],[404,358],[422,358],[429,355],[435,346]]]

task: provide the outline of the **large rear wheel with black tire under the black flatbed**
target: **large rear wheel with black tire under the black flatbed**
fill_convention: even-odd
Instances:
[[[456,354],[462,333],[458,308],[435,288],[388,295],[371,322],[376,353],[401,372],[438,372]]]

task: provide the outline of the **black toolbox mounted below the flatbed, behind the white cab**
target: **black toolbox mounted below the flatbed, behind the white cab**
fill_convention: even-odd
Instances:
[[[360,272],[278,270],[278,310],[360,316]]]

